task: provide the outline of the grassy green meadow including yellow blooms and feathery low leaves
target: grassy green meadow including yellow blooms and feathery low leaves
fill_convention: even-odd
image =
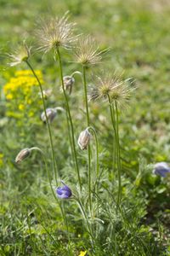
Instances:
[[[0,7],[0,255],[170,255],[170,175],[152,173],[157,162],[170,162],[169,1],[0,0]],[[111,105],[101,100],[88,102],[94,130],[90,130],[88,150],[81,150],[77,138],[89,125],[84,80],[75,75],[67,98],[82,189],[59,77],[59,55],[54,58],[53,52],[39,52],[35,32],[41,19],[62,17],[67,10],[69,20],[77,23],[77,34],[90,34],[99,50],[108,49],[99,65],[86,70],[88,95],[96,83],[95,75],[101,73],[122,73],[122,79],[130,78],[129,86],[136,88],[126,108],[118,111],[119,142],[113,136]],[[8,66],[7,54],[25,39],[32,45],[30,62],[43,90],[52,89],[46,107],[64,109],[50,124],[57,184],[48,125],[40,119],[43,105],[37,80],[26,71],[26,63]],[[83,71],[75,50],[60,51],[64,76]],[[5,87],[14,88],[17,83],[19,89],[7,96]],[[113,157],[114,141],[116,152],[120,144],[121,156]],[[17,164],[20,150],[32,147],[44,152],[45,164],[39,149]],[[121,201],[117,201],[119,164]],[[67,200],[55,193],[61,180],[73,194]]]

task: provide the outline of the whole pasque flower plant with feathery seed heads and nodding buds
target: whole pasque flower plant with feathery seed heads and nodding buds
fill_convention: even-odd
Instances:
[[[122,76],[117,76],[114,71],[108,72],[108,70],[100,72],[100,75],[96,76],[96,79],[91,81],[92,84],[94,84],[94,90],[90,96],[90,100],[98,100],[101,106],[102,100],[104,100],[105,102],[107,102],[107,106],[110,111],[114,140],[114,169],[111,169],[111,166],[106,166],[107,159],[105,160],[105,165],[103,165],[103,163],[101,162],[102,157],[101,160],[99,158],[100,153],[102,155],[105,151],[105,148],[102,148],[102,145],[99,144],[98,137],[101,131],[97,126],[98,122],[94,123],[94,119],[91,115],[90,104],[93,104],[93,102],[88,101],[88,70],[101,62],[103,51],[100,50],[99,46],[95,43],[95,40],[90,36],[83,36],[82,38],[79,38],[77,40],[77,36],[74,35],[74,29],[75,24],[68,22],[67,15],[64,15],[62,18],[52,17],[47,20],[42,20],[37,28],[37,41],[39,41],[40,44],[38,49],[41,50],[44,54],[48,54],[49,51],[54,52],[54,59],[59,63],[60,82],[58,84],[59,86],[61,84],[63,96],[65,99],[65,102],[61,103],[61,105],[59,102],[59,106],[64,106],[64,108],[54,108],[54,106],[56,106],[54,104],[58,101],[58,96],[53,95],[54,102],[50,102],[50,99],[48,99],[48,96],[51,95],[52,91],[50,89],[48,89],[48,91],[44,90],[42,86],[41,73],[36,72],[31,65],[31,51],[29,48],[26,48],[24,51],[26,55],[22,54],[18,55],[18,57],[16,57],[15,55],[11,55],[11,57],[13,57],[11,66],[18,65],[21,62],[25,62],[26,65],[30,67],[31,79],[33,78],[34,82],[40,88],[40,96],[42,98],[43,105],[41,119],[42,122],[46,123],[46,125],[48,126],[48,136],[51,146],[54,171],[54,181],[52,180],[50,172],[48,173],[48,180],[52,193],[54,195],[54,200],[57,201],[58,206],[61,210],[62,217],[65,222],[65,230],[67,230],[68,233],[68,239],[66,241],[68,241],[69,247],[71,246],[70,234],[71,232],[73,233],[73,231],[71,230],[71,232],[69,232],[68,224],[70,218],[75,217],[75,219],[77,218],[81,225],[84,224],[85,230],[88,231],[86,236],[90,238],[88,239],[88,246],[90,247],[89,251],[90,253],[92,252],[92,255],[98,255],[96,247],[100,243],[102,244],[102,246],[104,244],[109,244],[113,254],[118,255],[119,252],[117,250],[118,245],[116,241],[116,239],[118,239],[118,236],[116,236],[116,232],[119,229],[119,227],[121,227],[121,222],[124,221],[124,219],[122,220],[123,211],[126,211],[124,208],[122,208],[123,177],[121,155],[122,151],[119,136],[119,119],[120,114],[122,112],[122,108],[127,106],[127,104],[129,104],[129,102],[131,101],[131,96],[133,96],[134,88],[133,86],[131,86],[131,84],[128,83],[127,79],[123,79]],[[81,65],[82,73],[76,71],[73,72],[71,75],[64,76],[62,64],[62,51],[60,51],[60,49],[71,49],[72,45],[76,42],[77,45],[75,45],[74,49],[74,51],[76,52],[75,62]],[[81,102],[82,104],[81,106],[75,107],[75,105],[71,103],[73,102],[72,96],[76,97],[74,95],[74,91],[77,90],[77,86],[75,86],[74,84],[76,84],[77,81],[75,82],[75,79],[73,77],[76,73],[81,74],[82,77],[83,98],[78,98],[78,100],[75,101],[76,103]],[[75,86],[74,90],[72,90],[73,86]],[[59,90],[59,88],[57,89]],[[84,119],[82,119],[81,127],[87,128],[79,129],[79,119],[77,119],[77,122],[74,123],[74,119],[72,118],[71,113],[73,108],[75,108],[78,112],[79,108],[83,107],[84,109],[82,109],[82,117]],[[63,111],[64,109],[64,113],[66,113],[67,118],[68,133],[70,136],[73,161],[71,160],[70,152],[67,147],[68,144],[67,142],[65,142],[65,155],[66,157],[68,157],[67,160],[65,160],[65,162],[67,164],[68,160],[71,160],[71,162],[69,162],[69,165],[65,165],[66,167],[64,166],[64,164],[59,163],[59,170],[57,168],[57,164],[59,161],[57,155],[57,152],[59,150],[59,141],[57,141],[57,139],[59,138],[55,136],[55,133],[53,134],[54,130],[52,129],[55,129],[55,125],[51,126],[51,123],[57,116],[58,110]],[[38,116],[40,116],[40,114]],[[75,127],[77,127],[77,130],[75,129]],[[63,134],[65,134],[64,129],[62,135]],[[75,134],[79,135],[77,136],[77,143],[75,143]],[[67,138],[65,139],[65,136],[60,137],[62,137],[62,140],[67,140]],[[100,148],[101,151],[99,151]],[[31,150],[33,149],[34,148],[22,149],[20,153],[17,154],[15,162],[20,163],[22,162],[22,160],[25,160],[27,157],[30,156]],[[108,152],[107,154],[111,154],[111,152]],[[44,158],[45,157],[46,156],[44,156]],[[83,158],[85,158],[85,160]],[[87,164],[86,161],[88,162]],[[47,163],[46,167],[48,168],[48,170],[51,171],[52,168],[50,165],[48,166]],[[107,175],[108,169],[111,170],[109,175]],[[75,172],[77,175],[75,175]],[[170,169],[166,163],[156,164],[154,169],[154,173],[156,175],[166,177],[168,172],[170,172]],[[115,175],[115,173],[117,173],[117,175]],[[71,184],[71,188],[70,186],[67,186],[64,182],[61,182],[62,185],[59,186],[59,179],[63,178],[65,180],[65,177],[67,178],[68,183]],[[72,180],[76,180],[76,184],[72,184]],[[110,201],[107,201],[107,196],[108,198],[110,198]],[[67,201],[66,199],[71,199],[71,201]],[[75,201],[77,203],[76,206],[79,207],[79,209],[76,210],[75,212],[71,212],[73,209],[73,207],[71,206],[71,217],[69,216],[69,218],[67,218],[67,207],[68,205],[70,206],[72,202],[75,203]],[[121,223],[120,225],[119,222]],[[131,225],[127,224],[126,228],[130,230]],[[109,234],[107,235],[106,239],[105,234]],[[114,247],[111,243],[114,243]],[[83,253],[85,254],[86,251],[84,251]]]

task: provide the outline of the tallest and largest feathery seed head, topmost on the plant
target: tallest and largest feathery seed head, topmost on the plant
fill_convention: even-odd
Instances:
[[[37,29],[39,49],[44,53],[59,47],[70,49],[71,44],[77,40],[73,33],[74,27],[75,23],[68,22],[67,13],[62,18],[52,17],[48,20],[41,20]]]

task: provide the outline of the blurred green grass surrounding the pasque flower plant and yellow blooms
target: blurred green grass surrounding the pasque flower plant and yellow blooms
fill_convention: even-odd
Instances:
[[[159,161],[170,161],[170,3],[163,0],[0,0],[0,6],[0,254],[67,255],[67,230],[51,195],[39,153],[32,154],[20,166],[14,163],[21,148],[37,146],[50,155],[47,129],[40,120],[42,104],[33,102],[29,107],[34,113],[33,119],[29,118],[27,111],[17,114],[22,109],[8,106],[3,86],[17,70],[26,69],[24,65],[9,69],[5,52],[14,49],[23,38],[31,38],[34,44],[36,36],[33,30],[40,17],[51,14],[62,16],[70,10],[71,20],[78,24],[78,32],[93,34],[102,49],[111,48],[102,68],[124,70],[123,76],[132,77],[137,85],[135,99],[120,119],[123,196],[127,213],[122,226],[115,215],[112,216],[116,223],[118,255],[170,255],[170,177],[156,177],[148,166]],[[65,75],[80,69],[75,62],[71,62],[74,60],[71,52],[62,54]],[[53,96],[47,104],[52,108],[64,107],[59,66],[54,63],[53,55],[42,57],[37,53],[32,63],[42,71],[44,88],[53,89]],[[98,71],[98,67],[93,69],[93,73]],[[89,72],[89,81],[93,73]],[[31,93],[37,95],[35,91]],[[19,96],[18,100],[23,103],[23,97]],[[79,77],[73,88],[71,106],[78,137],[86,126],[82,80]],[[99,134],[99,159],[104,170],[102,182],[109,189],[111,183],[105,182],[111,175],[112,166],[109,113],[105,104],[96,102],[90,104],[90,114],[92,125]],[[64,113],[57,116],[52,129],[60,173],[74,190],[77,179],[72,171]],[[86,154],[79,152],[78,160],[83,176]],[[69,201],[65,208],[73,255],[86,250],[91,255],[88,235],[82,228],[81,219],[72,216],[77,206]],[[129,219],[132,219],[131,226]],[[109,230],[104,230],[103,236],[107,236],[106,232]],[[115,255],[111,247],[106,244],[101,246],[101,241],[99,244],[96,255]]]

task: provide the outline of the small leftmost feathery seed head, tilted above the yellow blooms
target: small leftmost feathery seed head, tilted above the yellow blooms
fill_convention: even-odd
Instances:
[[[8,65],[10,67],[14,67],[19,65],[22,62],[28,61],[29,57],[31,56],[31,47],[28,47],[26,42],[20,44],[17,49],[15,49],[14,53],[8,54],[10,58],[10,62]]]

